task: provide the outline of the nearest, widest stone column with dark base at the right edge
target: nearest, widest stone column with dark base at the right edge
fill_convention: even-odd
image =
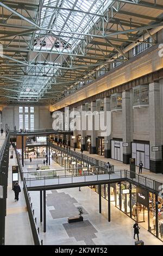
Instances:
[[[149,84],[149,138],[150,138],[150,161],[151,172],[160,173],[162,170],[161,153],[161,90],[160,83]],[[159,147],[159,151],[152,151],[152,147]]]

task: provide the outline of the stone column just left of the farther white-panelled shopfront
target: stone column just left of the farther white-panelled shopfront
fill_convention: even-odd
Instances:
[[[110,109],[110,97],[105,97],[104,98],[104,118],[105,118],[105,125],[107,125],[106,120],[109,118],[109,111]],[[111,120],[110,120],[111,121]],[[110,124],[111,126],[111,124]],[[111,134],[109,136],[104,137],[105,141],[108,141],[108,143],[104,144],[104,157],[110,158],[111,157]]]

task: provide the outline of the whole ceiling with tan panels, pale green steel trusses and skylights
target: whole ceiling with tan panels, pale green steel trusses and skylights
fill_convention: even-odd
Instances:
[[[63,99],[128,60],[123,48],[162,26],[162,10],[162,0],[0,1],[0,103]]]

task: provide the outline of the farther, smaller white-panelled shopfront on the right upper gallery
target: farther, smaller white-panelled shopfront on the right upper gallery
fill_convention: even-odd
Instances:
[[[123,162],[123,142],[111,140],[111,158]]]

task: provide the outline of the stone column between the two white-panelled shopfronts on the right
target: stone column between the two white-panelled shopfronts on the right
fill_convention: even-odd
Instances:
[[[123,147],[123,163],[129,163],[131,157],[131,102],[130,92],[122,93],[122,129],[123,143],[128,143],[128,147]]]

